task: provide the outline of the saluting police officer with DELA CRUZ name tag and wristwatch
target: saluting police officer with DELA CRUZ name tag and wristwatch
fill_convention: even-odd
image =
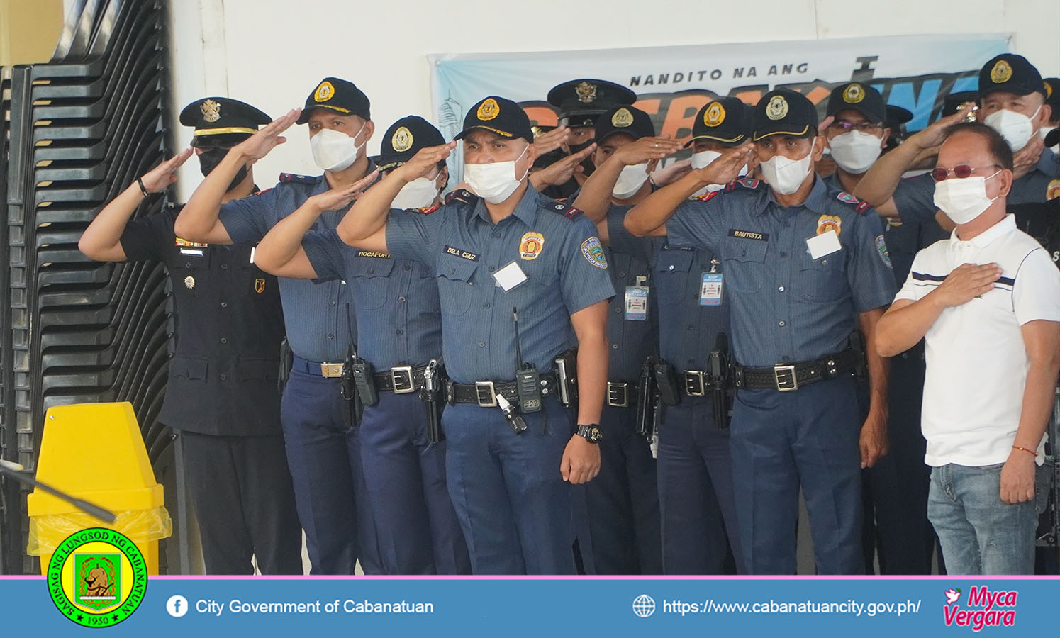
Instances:
[[[448,489],[474,572],[572,573],[565,481],[584,483],[600,468],[614,295],[606,259],[591,221],[528,188],[536,148],[518,105],[482,100],[457,138],[470,190],[428,215],[390,212],[404,184],[455,144],[425,148],[357,199],[339,236],[438,273],[452,379],[442,417]],[[560,403],[570,386],[559,378],[573,375],[561,355],[575,344],[577,421]]]

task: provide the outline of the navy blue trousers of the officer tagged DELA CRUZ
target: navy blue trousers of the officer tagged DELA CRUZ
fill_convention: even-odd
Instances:
[[[547,423],[546,423],[547,417]],[[572,574],[570,485],[560,475],[573,415],[552,398],[516,435],[499,408],[447,406],[449,495],[476,574]]]

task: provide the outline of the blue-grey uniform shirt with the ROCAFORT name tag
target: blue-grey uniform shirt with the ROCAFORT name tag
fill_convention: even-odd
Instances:
[[[366,336],[357,354],[376,371],[441,358],[442,315],[429,265],[351,248],[335,230],[310,231],[302,247],[320,281],[346,280]]]

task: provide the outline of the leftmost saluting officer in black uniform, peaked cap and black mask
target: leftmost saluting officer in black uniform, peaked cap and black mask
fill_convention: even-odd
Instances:
[[[269,117],[228,98],[189,104],[180,123],[204,175]],[[253,243],[216,246],[173,231],[179,207],[129,224],[148,196],[176,181],[192,149],[137,178],[82,235],[87,256],[159,261],[173,286],[176,347],[159,419],[179,432],[188,486],[198,518],[206,571],[302,573],[301,530],[280,429],[283,315],[276,278],[251,261]],[[257,191],[250,167],[225,180],[222,200]],[[184,513],[181,513],[184,515]]]

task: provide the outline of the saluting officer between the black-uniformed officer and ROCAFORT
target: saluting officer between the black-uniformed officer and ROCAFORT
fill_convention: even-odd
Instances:
[[[214,244],[259,241],[313,196],[329,191],[356,196],[377,175],[365,153],[374,130],[370,118],[368,96],[360,89],[344,79],[324,78],[306,98],[304,109],[278,118],[229,150],[177,217],[177,233]],[[313,159],[324,174],[283,174],[275,188],[223,206],[228,181],[286,141],[280,134],[296,120],[308,124]],[[314,228],[333,229],[341,214],[326,211]],[[340,393],[342,360],[355,339],[349,287],[339,280],[279,282],[294,355],[281,420],[312,573],[351,574],[358,560],[365,573],[379,573],[358,430]]]

